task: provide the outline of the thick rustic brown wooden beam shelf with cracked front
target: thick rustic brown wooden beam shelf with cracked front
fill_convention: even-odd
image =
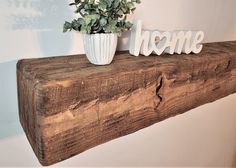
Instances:
[[[199,55],[133,57],[109,66],[84,55],[20,60],[20,122],[42,165],[236,92],[236,42]]]

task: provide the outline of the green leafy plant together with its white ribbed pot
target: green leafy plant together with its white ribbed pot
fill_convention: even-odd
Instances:
[[[96,65],[110,64],[115,55],[117,36],[130,30],[127,15],[140,0],[74,0],[71,6],[80,16],[65,22],[63,32],[75,30],[83,34],[88,60]]]

